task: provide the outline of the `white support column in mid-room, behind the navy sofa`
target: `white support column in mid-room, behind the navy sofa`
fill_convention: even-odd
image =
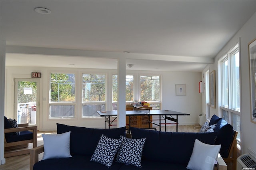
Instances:
[[[125,127],[126,126],[126,116],[125,116],[125,77],[126,77],[126,59],[120,57],[118,60],[118,109],[117,109],[117,120],[118,120],[118,127]]]

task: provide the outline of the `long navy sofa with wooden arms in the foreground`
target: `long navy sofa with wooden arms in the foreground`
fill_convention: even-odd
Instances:
[[[57,124],[57,133],[70,131],[71,158],[41,160],[38,154],[43,152],[43,146],[30,151],[30,169],[34,170],[186,170],[190,160],[195,139],[214,144],[217,132],[190,133],[190,132],[160,132],[140,128],[130,128],[132,138],[146,138],[142,151],[142,167],[113,162],[108,168],[90,158],[98,144],[100,136],[119,139],[125,136],[126,127],[112,129],[95,129],[74,127]],[[221,159],[221,157],[220,157]],[[221,162],[221,161],[219,161]],[[226,164],[224,164],[225,166]],[[225,169],[225,168],[224,168]]]

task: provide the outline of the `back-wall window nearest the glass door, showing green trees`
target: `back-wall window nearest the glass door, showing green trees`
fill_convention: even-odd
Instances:
[[[75,116],[75,74],[50,73],[50,119]]]

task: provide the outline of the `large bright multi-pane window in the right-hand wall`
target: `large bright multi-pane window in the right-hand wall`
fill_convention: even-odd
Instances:
[[[238,131],[240,147],[240,63],[239,46],[232,48],[218,61],[220,69],[220,97],[222,117]]]

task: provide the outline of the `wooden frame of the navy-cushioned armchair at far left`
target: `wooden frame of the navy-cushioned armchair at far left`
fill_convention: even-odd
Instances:
[[[4,135],[4,157],[8,158],[11,156],[18,156],[18,155],[23,155],[23,154],[29,154],[30,153],[30,149],[26,148],[28,147],[29,143],[33,143],[33,148],[37,147],[37,127],[33,126],[33,127],[29,127],[28,123],[25,124],[19,124],[18,128],[5,128],[4,129],[4,134],[7,133],[13,133],[13,132],[17,132],[20,131],[20,135],[12,135],[10,136],[10,138],[16,138],[15,141],[13,142],[8,142],[8,140],[6,140],[6,135]],[[32,130],[32,137],[30,138],[26,138],[26,140],[19,140],[19,137],[22,138],[22,134],[24,134],[23,132],[26,133],[31,133],[28,132]],[[31,134],[29,135],[31,136]],[[24,149],[20,149],[20,148],[24,148]]]

